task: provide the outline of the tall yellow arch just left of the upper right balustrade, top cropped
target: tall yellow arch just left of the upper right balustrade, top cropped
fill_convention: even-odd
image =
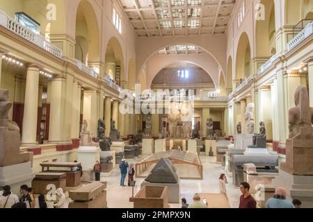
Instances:
[[[265,7],[265,19],[256,22],[256,56],[270,57],[276,54],[274,0],[260,1]]]

